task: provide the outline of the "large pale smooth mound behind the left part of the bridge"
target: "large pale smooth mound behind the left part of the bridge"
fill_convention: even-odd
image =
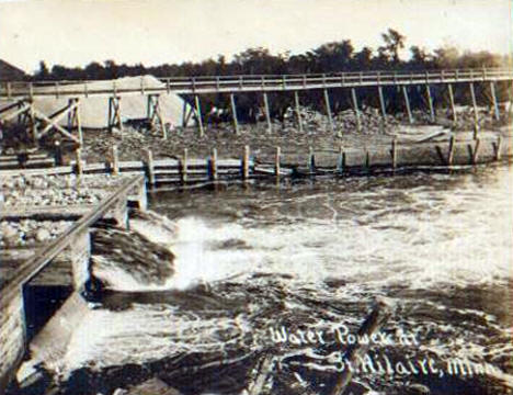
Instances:
[[[106,81],[93,81],[88,82],[88,90],[111,90],[116,87],[116,90],[121,92],[123,89],[140,89],[141,84],[145,89],[151,88],[166,88],[163,82],[160,82],[152,76],[141,77],[125,77],[116,80]],[[34,92],[55,92],[53,86],[45,88],[34,88]],[[84,83],[72,83],[59,86],[59,92],[65,94],[67,91],[84,91]],[[132,94],[119,94],[119,105],[122,121],[128,120],[144,120],[147,117],[147,105],[148,97],[146,94],[132,93]],[[42,113],[49,115],[58,110],[65,108],[68,104],[69,98],[56,98],[55,95],[49,97],[35,97],[34,108]],[[0,103],[0,104],[7,104]],[[166,89],[160,93],[159,98],[160,113],[164,123],[170,123],[172,126],[181,126],[184,120],[184,112],[189,114],[194,110],[185,103],[185,101],[178,94],[171,92],[167,93]],[[82,127],[87,128],[104,128],[109,125],[109,97],[80,97],[80,117]],[[65,125],[67,119],[60,121],[61,125]],[[189,119],[189,125],[194,122],[193,117]]]

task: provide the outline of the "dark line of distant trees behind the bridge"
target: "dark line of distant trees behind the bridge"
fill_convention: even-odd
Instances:
[[[309,74],[362,70],[415,70],[441,68],[479,68],[506,65],[506,57],[489,52],[460,53],[455,47],[442,47],[428,52],[419,46],[410,46],[410,58],[403,60],[400,54],[406,47],[406,36],[394,29],[381,34],[383,45],[377,49],[363,47],[355,50],[350,40],[322,44],[305,54],[289,53],[273,55],[269,49],[249,48],[227,61],[224,55],[217,59],[180,65],[146,67],[138,65],[117,65],[114,60],[90,63],[84,67],[54,65],[52,69],[45,61],[33,75],[34,80],[102,80],[127,76],[153,75],[156,77],[228,76],[258,74]]]

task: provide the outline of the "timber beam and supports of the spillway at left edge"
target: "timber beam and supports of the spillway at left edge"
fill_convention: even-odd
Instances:
[[[87,212],[73,212],[70,215],[76,223],[57,239],[32,253],[31,258],[19,263],[13,272],[0,283],[0,393],[13,377],[22,362],[27,347],[26,316],[24,287],[45,269],[60,270],[62,264],[68,266],[66,272],[71,272],[71,284],[76,291],[83,287],[90,276],[90,239],[89,228],[107,215],[127,217],[127,202],[130,195],[136,199],[146,199],[146,184],[141,174],[128,178],[121,187],[110,193],[98,205],[87,207]],[[142,191],[142,192],[141,192]],[[144,198],[141,194],[144,193]],[[82,207],[83,208],[83,207]],[[66,212],[66,207],[60,207]],[[113,213],[113,214],[112,214]],[[14,213],[11,213],[11,217]],[[47,213],[52,216],[53,212]],[[54,213],[56,214],[56,213]],[[61,216],[62,213],[57,213]],[[75,215],[75,217],[73,217]],[[78,217],[81,215],[80,217]],[[43,274],[43,273],[42,273]],[[68,279],[62,278],[62,282]]]

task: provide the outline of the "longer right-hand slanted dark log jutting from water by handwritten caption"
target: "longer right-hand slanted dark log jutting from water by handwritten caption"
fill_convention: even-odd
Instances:
[[[365,318],[365,321],[358,329],[356,338],[372,338],[373,334],[379,330],[385,321],[391,316],[394,305],[385,298],[378,298],[373,307],[371,314]],[[337,377],[335,385],[330,392],[330,395],[342,395],[344,394],[347,385],[351,383],[353,371],[357,370],[360,363],[364,360],[365,354],[368,351],[371,342],[356,341],[350,346],[344,354],[344,361],[346,366],[353,366],[353,369],[344,369],[342,373]]]

